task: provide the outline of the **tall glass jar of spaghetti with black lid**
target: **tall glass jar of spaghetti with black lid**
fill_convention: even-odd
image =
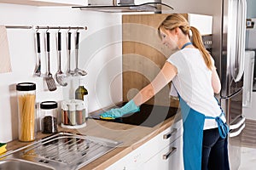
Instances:
[[[18,118],[19,118],[19,140],[31,142],[36,136],[36,84],[32,82],[21,82],[16,84]]]

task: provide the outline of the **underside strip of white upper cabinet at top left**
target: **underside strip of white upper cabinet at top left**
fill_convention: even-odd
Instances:
[[[32,6],[75,6],[87,5],[87,0],[0,0],[0,3],[12,3]]]

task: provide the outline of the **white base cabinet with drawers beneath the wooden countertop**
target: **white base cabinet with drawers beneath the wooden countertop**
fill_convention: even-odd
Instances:
[[[180,158],[182,156],[182,140],[177,140],[182,138],[183,128],[182,121],[179,120],[175,122],[172,127],[166,128],[162,133],[155,136],[153,139],[150,139],[147,143],[141,145],[136,150],[133,150],[127,156],[121,158],[119,161],[116,161],[110,167],[106,168],[107,170],[142,170],[142,169],[153,169],[148,167],[148,164],[155,164],[154,167],[159,166],[163,162],[168,161],[168,165],[172,164],[174,167],[177,167],[178,164],[183,164],[183,160]],[[177,150],[175,154],[170,156],[166,160],[155,161],[156,157],[160,154],[163,156],[169,150],[169,147],[176,147]],[[152,161],[151,161],[152,160]],[[178,160],[178,161],[177,161]],[[173,163],[174,162],[174,163]],[[146,164],[145,164],[146,163]],[[164,163],[166,164],[166,163]],[[167,167],[167,166],[166,166]],[[158,168],[157,168],[158,169]],[[168,168],[163,168],[169,169]],[[162,170],[162,169],[161,169]]]

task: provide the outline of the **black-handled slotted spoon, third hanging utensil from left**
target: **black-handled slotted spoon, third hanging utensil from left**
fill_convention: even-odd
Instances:
[[[58,48],[58,71],[55,74],[55,79],[61,86],[67,86],[67,82],[64,81],[67,75],[61,71],[61,32],[60,31],[58,31],[57,33],[57,48]]]

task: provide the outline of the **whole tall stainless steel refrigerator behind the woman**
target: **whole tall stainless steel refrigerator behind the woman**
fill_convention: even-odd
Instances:
[[[241,163],[241,133],[245,127],[242,96],[247,2],[222,0],[221,3],[222,13],[218,19],[220,25],[212,28],[221,33],[213,35],[212,57],[222,85],[218,98],[230,127],[230,169],[237,170]],[[214,38],[219,41],[214,42]]]

